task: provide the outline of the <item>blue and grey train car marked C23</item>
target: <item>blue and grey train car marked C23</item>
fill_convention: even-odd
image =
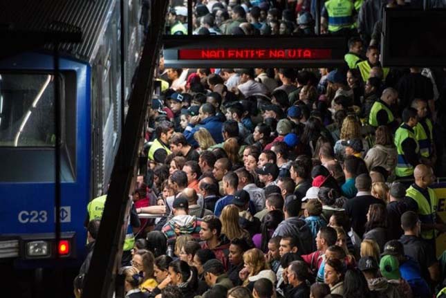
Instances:
[[[0,261],[42,268],[52,266],[58,251],[74,266],[85,255],[86,205],[106,191],[118,150],[122,103],[131,91],[143,39],[141,3],[19,2],[24,6],[12,3],[11,9],[17,11],[8,12],[10,20],[3,23],[36,31],[54,23],[77,26],[82,41],[59,45],[57,76],[50,44],[0,59]],[[55,243],[56,80],[62,111],[59,243]]]

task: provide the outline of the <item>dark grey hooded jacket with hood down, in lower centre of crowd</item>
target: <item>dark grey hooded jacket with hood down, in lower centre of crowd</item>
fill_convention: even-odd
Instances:
[[[312,241],[304,241],[304,239],[313,239],[313,234],[311,234],[310,227],[306,224],[306,222],[297,216],[286,218],[284,221],[279,223],[274,234],[272,234],[272,237],[275,236],[296,237],[296,239],[299,241],[297,249],[299,250],[300,254],[309,254],[310,252],[314,252],[316,250],[316,248],[313,248]]]

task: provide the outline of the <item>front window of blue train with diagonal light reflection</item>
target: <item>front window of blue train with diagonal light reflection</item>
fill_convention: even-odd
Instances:
[[[0,74],[0,147],[54,147],[54,77]]]

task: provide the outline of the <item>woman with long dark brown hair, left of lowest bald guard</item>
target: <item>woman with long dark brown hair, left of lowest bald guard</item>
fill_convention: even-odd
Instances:
[[[372,239],[378,243],[380,252],[387,242],[387,209],[384,204],[372,204],[367,212],[364,239]]]

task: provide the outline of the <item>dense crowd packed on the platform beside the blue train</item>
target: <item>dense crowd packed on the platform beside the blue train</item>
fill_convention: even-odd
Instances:
[[[194,32],[314,33],[304,26],[315,1],[281,2],[197,1]],[[333,19],[338,2],[351,3],[351,23]],[[445,71],[382,68],[379,13],[361,17],[377,3],[321,1],[323,32],[361,34],[340,68],[182,69],[160,58],[122,255],[126,297],[446,297],[446,257],[436,257],[446,225],[431,188],[443,175]],[[178,34],[187,9],[171,4]],[[105,200],[88,207],[76,295]]]

